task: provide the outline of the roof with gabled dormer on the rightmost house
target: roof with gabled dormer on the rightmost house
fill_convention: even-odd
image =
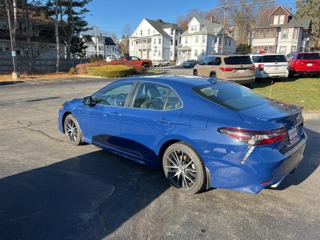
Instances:
[[[286,12],[288,12],[291,16],[288,23],[286,24],[280,24],[280,25],[273,25],[270,24],[269,21],[262,23],[261,25],[257,27],[253,27],[252,29],[256,28],[266,28],[266,27],[280,27],[280,28],[286,28],[286,27],[302,27],[304,29],[308,29],[311,24],[311,18],[297,18],[295,15],[293,15],[289,10],[285,9],[282,5],[279,5],[270,15],[272,15],[279,7],[282,7]],[[269,16],[270,16],[269,15]]]

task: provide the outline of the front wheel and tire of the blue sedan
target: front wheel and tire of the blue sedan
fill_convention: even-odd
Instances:
[[[82,145],[82,131],[76,118],[69,114],[65,117],[63,122],[63,129],[66,138],[73,145]]]

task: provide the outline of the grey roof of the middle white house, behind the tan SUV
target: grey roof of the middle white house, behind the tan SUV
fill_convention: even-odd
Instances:
[[[184,31],[180,36],[189,36],[189,35],[198,35],[198,34],[212,34],[217,35],[222,30],[222,24],[215,21],[209,21],[206,19],[194,17],[203,27],[199,31],[189,32],[188,30]],[[230,33],[225,30],[226,35],[231,37]]]

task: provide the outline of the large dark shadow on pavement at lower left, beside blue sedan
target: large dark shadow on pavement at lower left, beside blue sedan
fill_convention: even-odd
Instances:
[[[162,171],[104,150],[7,176],[0,238],[101,239],[168,187]]]

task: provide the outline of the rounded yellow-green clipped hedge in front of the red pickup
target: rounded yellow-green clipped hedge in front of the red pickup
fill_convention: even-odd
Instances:
[[[93,76],[125,77],[131,74],[131,68],[125,65],[105,65],[87,67],[86,71]]]

